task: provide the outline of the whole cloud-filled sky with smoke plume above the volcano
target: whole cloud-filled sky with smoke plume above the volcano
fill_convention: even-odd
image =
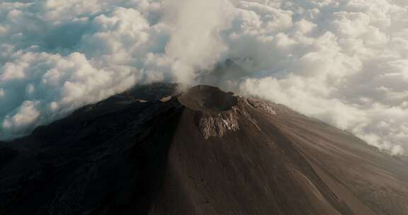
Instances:
[[[227,59],[244,70],[212,72]],[[282,103],[404,154],[408,1],[1,1],[0,140],[157,81]]]

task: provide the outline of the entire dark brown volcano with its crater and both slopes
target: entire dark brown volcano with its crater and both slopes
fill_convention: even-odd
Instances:
[[[408,160],[284,105],[140,86],[0,143],[0,214],[408,214]]]

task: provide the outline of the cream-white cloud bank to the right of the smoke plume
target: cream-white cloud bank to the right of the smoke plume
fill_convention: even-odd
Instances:
[[[406,5],[244,1],[238,8],[229,55],[251,59],[255,72],[233,88],[347,129],[381,150],[407,150]]]

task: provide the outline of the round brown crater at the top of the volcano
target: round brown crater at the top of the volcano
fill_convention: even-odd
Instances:
[[[237,105],[237,97],[214,86],[199,85],[182,93],[179,102],[202,112],[225,112]]]

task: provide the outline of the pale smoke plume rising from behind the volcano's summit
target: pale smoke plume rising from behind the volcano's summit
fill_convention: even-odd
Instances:
[[[228,27],[232,5],[225,0],[165,2],[165,21],[171,28],[166,56],[176,62],[172,68],[176,79],[192,83],[196,72],[216,64],[227,51],[219,33]]]

